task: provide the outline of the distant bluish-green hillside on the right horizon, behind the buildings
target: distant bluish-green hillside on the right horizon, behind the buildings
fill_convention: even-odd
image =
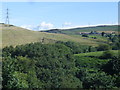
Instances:
[[[78,35],[80,32],[90,32],[90,31],[97,31],[97,32],[104,31],[106,33],[117,32],[118,26],[117,25],[103,25],[103,26],[72,28],[72,29],[52,29],[52,30],[47,30],[44,32]]]

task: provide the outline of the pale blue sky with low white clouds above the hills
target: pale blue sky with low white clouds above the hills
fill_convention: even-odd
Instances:
[[[32,30],[74,28],[118,23],[118,2],[3,2],[10,24]]]

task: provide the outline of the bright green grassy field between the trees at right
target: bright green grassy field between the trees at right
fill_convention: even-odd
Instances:
[[[114,55],[118,54],[118,50],[111,50]],[[100,59],[99,56],[103,54],[103,51],[89,52],[75,54],[75,60],[77,67],[86,68],[100,68],[103,64],[106,64],[110,59]]]

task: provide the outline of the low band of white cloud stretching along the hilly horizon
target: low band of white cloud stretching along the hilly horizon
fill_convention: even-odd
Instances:
[[[118,25],[118,23],[73,26],[70,22],[65,22],[64,25],[66,25],[66,26],[56,27],[56,28],[57,29],[71,29],[71,28],[95,27],[95,26],[101,26],[101,25]],[[29,30],[34,30],[34,31],[55,29],[55,27],[52,23],[46,23],[46,22],[41,22],[39,25],[22,25],[20,27],[26,28]]]

